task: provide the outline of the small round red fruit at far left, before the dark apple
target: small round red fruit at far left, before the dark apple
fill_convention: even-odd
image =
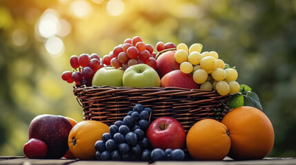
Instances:
[[[41,159],[46,157],[48,147],[46,143],[32,138],[23,146],[23,153],[30,159]]]

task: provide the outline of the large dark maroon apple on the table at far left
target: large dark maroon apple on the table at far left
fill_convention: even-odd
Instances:
[[[72,125],[61,115],[37,115],[29,126],[29,139],[36,138],[46,143],[46,158],[59,159],[69,149],[68,135]]]

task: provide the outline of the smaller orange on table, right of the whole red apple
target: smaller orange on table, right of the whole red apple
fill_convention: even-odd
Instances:
[[[186,146],[194,159],[224,159],[230,149],[228,130],[224,124],[217,120],[200,120],[189,129]]]

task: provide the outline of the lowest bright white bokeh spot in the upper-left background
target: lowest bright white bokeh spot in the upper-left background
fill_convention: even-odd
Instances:
[[[46,51],[53,57],[61,56],[64,51],[63,41],[61,41],[61,39],[59,39],[57,36],[53,36],[48,39],[44,43],[44,46],[46,47]]]

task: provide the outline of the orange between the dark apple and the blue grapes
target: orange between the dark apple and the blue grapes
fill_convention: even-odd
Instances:
[[[109,126],[95,120],[86,120],[73,126],[68,137],[71,153],[78,159],[95,159],[95,142],[101,140]]]

